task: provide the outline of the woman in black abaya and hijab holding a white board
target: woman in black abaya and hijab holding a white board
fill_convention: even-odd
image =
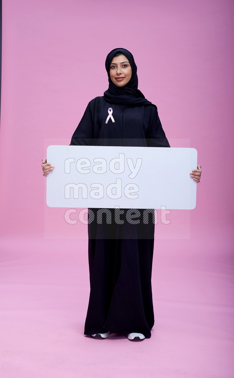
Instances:
[[[109,86],[104,96],[91,100],[77,126],[71,145],[170,147],[157,106],[138,90],[133,55],[117,48],[107,55]],[[43,175],[54,166],[42,161]],[[190,172],[200,182],[201,166]],[[98,211],[109,210],[121,222],[97,222]],[[131,341],[150,338],[154,324],[151,273],[154,245],[154,209],[145,224],[126,221],[130,209],[88,209],[90,297],[85,335],[107,338],[109,332],[127,334]],[[133,213],[137,211],[132,209]],[[121,215],[121,217],[120,217]],[[135,215],[136,216],[136,215]],[[103,220],[103,217],[102,217]]]

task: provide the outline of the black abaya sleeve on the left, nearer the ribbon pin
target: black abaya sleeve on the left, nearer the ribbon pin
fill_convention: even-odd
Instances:
[[[88,146],[93,139],[95,122],[95,99],[91,100],[79,122],[76,130],[71,137],[69,146]],[[92,143],[91,143],[92,144]]]

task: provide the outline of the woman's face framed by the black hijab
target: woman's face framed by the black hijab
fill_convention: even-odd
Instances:
[[[110,65],[110,78],[117,87],[124,87],[132,77],[132,68],[125,55],[115,56]]]

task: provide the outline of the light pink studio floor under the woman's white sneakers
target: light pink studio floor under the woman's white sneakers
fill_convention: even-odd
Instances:
[[[150,339],[130,342],[84,336],[87,241],[2,239],[1,376],[232,378],[228,240],[155,240],[155,325]]]

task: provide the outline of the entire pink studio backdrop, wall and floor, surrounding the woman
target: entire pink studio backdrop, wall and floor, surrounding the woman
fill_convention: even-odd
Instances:
[[[3,0],[4,377],[233,376],[233,15],[221,0]],[[87,239],[44,237],[44,139],[71,138],[118,47],[169,141],[190,139],[202,169],[190,239],[155,239],[155,325],[140,343],[83,335]]]

